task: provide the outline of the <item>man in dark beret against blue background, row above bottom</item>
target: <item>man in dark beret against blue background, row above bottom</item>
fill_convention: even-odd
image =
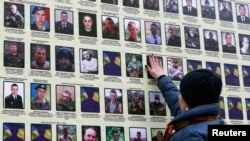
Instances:
[[[31,100],[31,109],[50,110],[50,102],[45,98],[46,84],[38,84],[36,87],[36,97]]]

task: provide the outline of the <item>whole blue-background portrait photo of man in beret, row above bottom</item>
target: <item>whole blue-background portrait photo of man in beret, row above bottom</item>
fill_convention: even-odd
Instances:
[[[31,109],[50,110],[50,85],[31,83]]]

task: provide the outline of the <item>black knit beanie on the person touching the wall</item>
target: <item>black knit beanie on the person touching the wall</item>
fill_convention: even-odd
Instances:
[[[207,69],[187,73],[180,83],[180,91],[189,108],[219,102],[221,78]]]

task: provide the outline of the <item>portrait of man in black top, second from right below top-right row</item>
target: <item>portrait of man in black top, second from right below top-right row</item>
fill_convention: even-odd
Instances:
[[[221,32],[221,43],[223,53],[236,54],[235,34],[231,32]]]

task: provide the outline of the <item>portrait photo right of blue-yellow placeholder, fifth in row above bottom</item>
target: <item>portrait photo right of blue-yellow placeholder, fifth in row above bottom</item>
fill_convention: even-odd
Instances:
[[[105,113],[123,114],[122,89],[105,88]]]

